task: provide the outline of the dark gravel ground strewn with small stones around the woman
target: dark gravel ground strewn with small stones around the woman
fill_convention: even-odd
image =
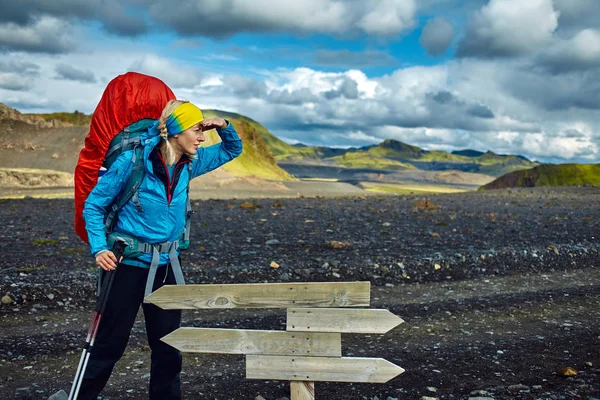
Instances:
[[[321,383],[317,399],[600,398],[600,190],[195,201],[188,283],[372,283],[372,308],[405,323],[343,335],[343,354],[406,372]],[[70,388],[96,271],[72,201],[3,200],[0,397]],[[270,265],[275,262],[279,268]],[[284,329],[285,310],[184,311],[184,326]],[[141,318],[104,398],[147,398]],[[568,369],[570,368],[570,369]],[[186,398],[289,397],[244,379],[242,356],[184,355]],[[566,376],[572,375],[572,376]]]

